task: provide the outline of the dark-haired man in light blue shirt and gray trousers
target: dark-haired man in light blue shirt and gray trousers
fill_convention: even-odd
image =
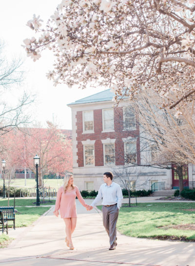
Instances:
[[[118,211],[121,206],[123,199],[122,190],[119,184],[113,182],[113,173],[105,172],[103,174],[103,181],[99,188],[98,195],[93,201],[91,206],[95,206],[103,198],[102,201],[102,214],[103,214],[103,225],[110,238],[110,248],[113,250],[117,246],[117,219]]]

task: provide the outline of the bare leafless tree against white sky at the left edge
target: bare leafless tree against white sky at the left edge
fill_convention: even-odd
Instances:
[[[6,91],[15,90],[16,85],[23,81],[24,72],[21,70],[22,61],[12,59],[8,61],[3,55],[3,43],[0,42],[0,136],[15,127],[29,123],[30,116],[27,115],[26,107],[34,101],[34,96],[26,92],[17,103],[10,104],[3,97]],[[4,99],[4,100],[3,100]]]

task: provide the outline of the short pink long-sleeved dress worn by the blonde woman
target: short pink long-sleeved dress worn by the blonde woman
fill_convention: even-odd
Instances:
[[[57,193],[54,214],[60,211],[61,218],[77,217],[76,196],[78,197],[79,202],[85,207],[86,204],[77,186],[71,191],[66,190],[66,193],[64,192],[63,187],[60,186]]]

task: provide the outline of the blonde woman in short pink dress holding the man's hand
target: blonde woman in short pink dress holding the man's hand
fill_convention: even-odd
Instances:
[[[74,185],[73,175],[66,174],[64,177],[63,186],[59,188],[57,193],[54,214],[58,217],[60,212],[60,216],[65,222],[65,242],[70,249],[74,249],[71,236],[77,224],[76,196],[78,197],[79,202],[86,207],[86,209],[89,208],[89,205],[85,204],[78,187]]]

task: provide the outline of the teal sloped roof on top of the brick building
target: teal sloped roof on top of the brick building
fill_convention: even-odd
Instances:
[[[82,98],[82,99],[77,100],[75,102],[71,102],[68,105],[89,103],[89,102],[112,101],[114,95],[115,94],[113,92],[111,92],[110,89],[108,89],[108,90],[104,90],[104,91],[98,92],[96,94],[93,94],[91,96]]]

